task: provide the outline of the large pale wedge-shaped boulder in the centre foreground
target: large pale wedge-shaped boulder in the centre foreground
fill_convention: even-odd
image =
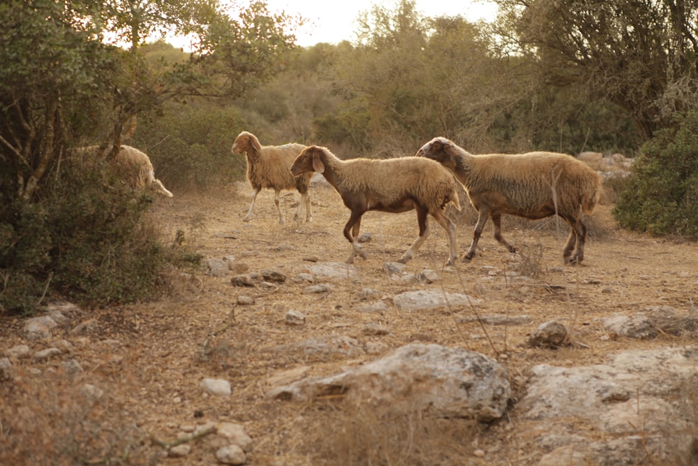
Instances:
[[[331,377],[304,379],[269,393],[306,401],[343,393],[347,402],[396,412],[424,409],[439,417],[491,421],[511,396],[507,371],[482,354],[438,344],[409,344],[384,358]]]

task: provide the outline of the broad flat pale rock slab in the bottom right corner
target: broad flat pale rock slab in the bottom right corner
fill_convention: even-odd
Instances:
[[[683,464],[678,458],[695,454],[686,432],[695,424],[697,365],[698,348],[683,345],[623,351],[606,364],[536,365],[516,408],[523,435],[551,452],[546,466],[634,465],[648,455],[654,464]],[[555,453],[563,447],[586,463],[570,463],[579,454]]]

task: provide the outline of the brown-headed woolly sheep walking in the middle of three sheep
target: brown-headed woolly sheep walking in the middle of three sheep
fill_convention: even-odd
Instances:
[[[366,258],[358,238],[361,217],[369,210],[394,213],[417,210],[419,236],[399,262],[412,259],[429,236],[427,214],[446,231],[450,247],[447,265],[456,260],[456,226],[446,217],[444,209],[452,202],[460,210],[458,185],[453,175],[438,163],[426,159],[415,163],[415,159],[408,157],[342,161],[327,147],[310,146],[297,156],[291,173],[301,175],[313,171],[325,176],[351,211],[344,226],[344,236],[352,246],[348,263],[352,263],[357,255]]]

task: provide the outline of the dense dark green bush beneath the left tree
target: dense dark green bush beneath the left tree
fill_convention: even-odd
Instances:
[[[0,309],[31,314],[50,291],[91,306],[152,296],[178,260],[143,219],[153,198],[99,167],[54,175],[34,203],[0,194]]]

